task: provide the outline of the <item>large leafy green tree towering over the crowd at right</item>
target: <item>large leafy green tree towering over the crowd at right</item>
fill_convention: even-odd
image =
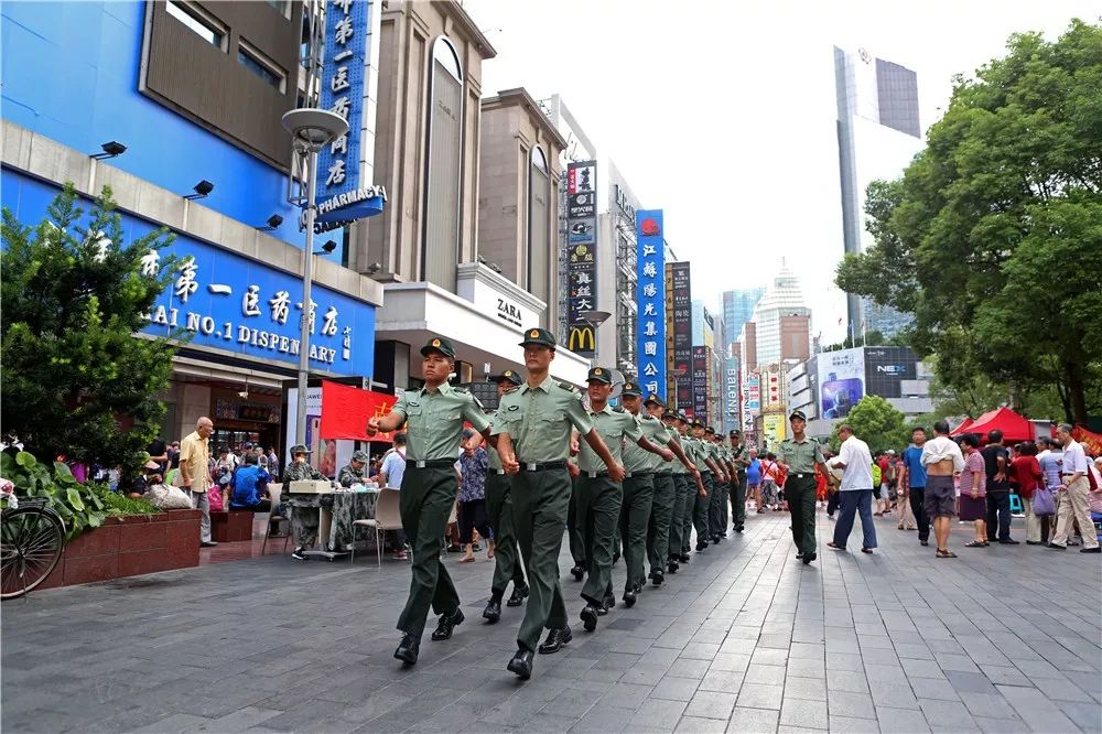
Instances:
[[[958,77],[900,180],[868,186],[875,245],[836,282],[912,313],[911,346],[938,355],[944,385],[1055,384],[1085,423],[1102,408],[1102,26],[1007,50]]]

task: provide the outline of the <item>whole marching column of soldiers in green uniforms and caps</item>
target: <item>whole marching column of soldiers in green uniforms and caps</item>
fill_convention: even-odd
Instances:
[[[743,530],[748,455],[737,432],[726,445],[700,420],[690,423],[669,410],[657,395],[644,399],[630,381],[622,391],[623,407],[613,408],[611,370],[602,367],[588,373],[586,407],[581,392],[550,377],[557,347],[550,332],[529,330],[520,346],[527,378],[512,371],[495,378],[499,407],[491,420],[474,396],[447,384],[455,353],[443,337],[421,349],[424,387],[404,392],[389,415],[368,420],[368,435],[404,425],[409,440],[401,516],[413,549],[412,581],[395,651],[406,665],[418,660],[430,608],[439,616],[433,640],[449,639],[464,620],[440,562],[464,421],[487,441],[491,456],[486,494],[497,550],[483,617],[491,624],[500,619],[510,581],[508,606],[528,600],[517,651],[506,666],[522,680],[531,677],[537,651],[557,652],[572,638],[558,565],[568,525],[571,571],[575,580],[585,579],[580,616],[586,632],[616,604],[612,566],[617,547],[627,569],[622,600],[633,606],[648,578],[661,585],[666,573],[677,573],[690,560],[693,527],[698,551],[722,542],[728,521],[736,532]],[[809,547],[800,527],[797,544],[807,562],[809,554],[814,558],[806,552],[813,548],[813,529]]]

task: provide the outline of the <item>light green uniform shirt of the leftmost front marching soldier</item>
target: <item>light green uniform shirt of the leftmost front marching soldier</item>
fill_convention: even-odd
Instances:
[[[407,390],[392,412],[406,423],[406,461],[410,462],[454,460],[463,421],[479,433],[489,425],[475,397],[447,382],[435,390]]]

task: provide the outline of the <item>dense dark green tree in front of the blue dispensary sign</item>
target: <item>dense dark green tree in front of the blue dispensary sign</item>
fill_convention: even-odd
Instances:
[[[172,236],[123,244],[108,187],[87,227],[83,216],[72,184],[36,227],[3,208],[3,438],[46,460],[132,467],[164,414],[153,396],[174,354],[165,338],[136,336],[174,265],[161,257],[145,276],[142,257]]]

